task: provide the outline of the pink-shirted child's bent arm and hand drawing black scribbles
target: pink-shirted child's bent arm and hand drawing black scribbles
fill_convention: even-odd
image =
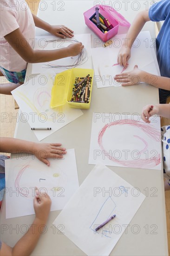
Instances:
[[[69,56],[76,56],[84,48],[82,43],[79,42],[57,50],[33,50],[33,48],[28,43],[26,46],[23,46],[23,42],[26,42],[27,40],[21,33],[20,28],[14,30],[10,34],[7,34],[4,36],[4,38],[21,56],[21,58],[29,63],[55,61]]]

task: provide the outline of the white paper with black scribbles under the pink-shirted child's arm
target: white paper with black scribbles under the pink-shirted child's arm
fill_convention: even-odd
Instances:
[[[54,39],[57,41],[51,42],[51,40]],[[71,43],[75,43],[72,42],[72,40],[75,39],[78,40],[78,42],[82,42],[82,44],[85,46],[84,55],[82,55],[81,60],[78,60],[77,55],[50,62],[34,63],[32,66],[32,74],[44,74],[46,71],[49,71],[49,69],[53,69],[55,73],[60,73],[64,70],[67,70],[69,68],[67,67],[68,65],[74,65],[75,63],[77,63],[77,60],[78,65],[74,67],[92,68],[91,34],[75,34],[72,39],[62,39],[55,36],[38,36],[36,37],[36,40],[34,42],[34,49],[43,51],[62,49],[69,46]]]

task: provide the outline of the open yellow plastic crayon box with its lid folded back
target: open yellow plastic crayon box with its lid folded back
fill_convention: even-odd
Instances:
[[[91,85],[88,87],[88,103],[83,102],[72,102],[72,89],[74,88],[76,77],[85,77],[87,75],[92,77]],[[93,84],[93,69],[83,69],[83,68],[72,68],[61,72],[55,76],[55,82],[52,87],[52,98],[50,107],[56,108],[65,104],[68,104],[72,108],[90,108],[91,96],[92,96],[92,84]],[[75,100],[73,100],[75,101]]]

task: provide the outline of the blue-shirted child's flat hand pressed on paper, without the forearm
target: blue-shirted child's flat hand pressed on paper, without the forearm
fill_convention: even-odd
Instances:
[[[135,65],[134,69],[128,73],[116,74],[114,79],[117,82],[122,82],[122,85],[134,85],[142,82],[142,70]]]

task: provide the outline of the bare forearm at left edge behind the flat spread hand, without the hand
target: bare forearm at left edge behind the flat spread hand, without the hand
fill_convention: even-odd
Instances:
[[[24,151],[26,153],[33,153],[34,142],[23,141],[14,138],[0,138],[0,152],[6,153],[20,153]]]

